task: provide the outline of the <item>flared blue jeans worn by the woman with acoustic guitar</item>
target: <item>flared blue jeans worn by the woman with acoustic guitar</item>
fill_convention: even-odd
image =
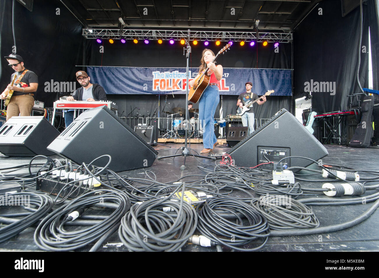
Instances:
[[[213,144],[217,142],[215,135],[215,112],[220,101],[218,87],[209,85],[203,92],[199,100],[199,120],[203,127],[204,149],[213,149]]]

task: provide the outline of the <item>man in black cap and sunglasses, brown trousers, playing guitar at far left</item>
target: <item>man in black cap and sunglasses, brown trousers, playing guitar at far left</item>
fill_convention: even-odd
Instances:
[[[6,99],[9,90],[14,91],[6,109],[6,120],[18,115],[30,116],[34,106],[34,93],[38,88],[38,76],[33,71],[25,69],[23,58],[20,55],[9,54],[5,59],[7,59],[9,67],[15,71],[11,80],[16,75],[14,84],[8,84],[0,95],[0,99]]]

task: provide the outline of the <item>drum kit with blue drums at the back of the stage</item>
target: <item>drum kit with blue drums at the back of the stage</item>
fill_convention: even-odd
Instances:
[[[188,138],[202,138],[203,128],[201,121],[199,121],[199,109],[188,109],[188,112],[193,112],[195,117],[185,120],[186,109],[182,107],[174,107],[172,111],[163,111],[166,113],[167,127],[166,134],[163,135],[163,138],[185,138],[185,132],[187,132]],[[174,115],[179,115],[180,117]],[[171,120],[172,125],[169,126],[169,121]],[[221,119],[219,121],[215,120],[215,128],[225,127],[226,120]],[[171,127],[171,130],[169,129]]]

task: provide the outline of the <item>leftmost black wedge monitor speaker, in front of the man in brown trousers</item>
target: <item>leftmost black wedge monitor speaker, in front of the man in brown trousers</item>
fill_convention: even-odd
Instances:
[[[54,155],[46,147],[58,135],[43,116],[14,116],[0,128],[0,152],[9,156]]]

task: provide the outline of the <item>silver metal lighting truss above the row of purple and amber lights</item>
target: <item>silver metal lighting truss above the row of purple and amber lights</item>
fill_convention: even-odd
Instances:
[[[83,29],[82,35],[86,39],[163,39],[181,40],[187,37],[187,31],[179,30],[122,30],[121,29]],[[229,31],[190,31],[191,40],[221,40],[221,41],[250,41],[256,42],[282,42],[288,43],[293,40],[292,33],[269,33],[259,30],[259,37],[255,32],[229,32]]]

